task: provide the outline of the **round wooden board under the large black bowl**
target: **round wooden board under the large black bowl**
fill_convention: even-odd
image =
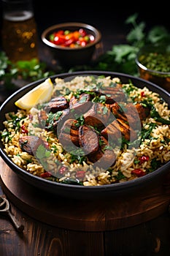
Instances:
[[[168,211],[170,178],[150,192],[113,200],[70,200],[32,187],[0,158],[1,187],[21,211],[48,225],[70,230],[107,231],[147,222]]]

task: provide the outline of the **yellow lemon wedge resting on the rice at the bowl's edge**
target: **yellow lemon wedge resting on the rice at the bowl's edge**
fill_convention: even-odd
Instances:
[[[44,82],[40,83],[27,94],[23,95],[15,102],[18,108],[29,110],[37,104],[42,104],[50,100],[53,94],[53,82],[50,78],[47,78]]]

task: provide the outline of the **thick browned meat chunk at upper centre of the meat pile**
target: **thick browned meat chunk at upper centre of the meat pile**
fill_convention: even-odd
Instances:
[[[104,129],[108,123],[109,116],[110,111],[108,108],[101,103],[96,103],[85,113],[85,124],[97,129]]]

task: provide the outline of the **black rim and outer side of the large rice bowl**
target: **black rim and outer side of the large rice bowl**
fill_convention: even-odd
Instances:
[[[128,75],[128,74],[124,74],[124,73],[120,73],[120,72],[109,72],[109,71],[77,71],[77,72],[65,72],[62,74],[57,74],[57,75],[52,75],[50,76],[50,78],[54,81],[55,78],[72,78],[72,76],[77,76],[77,75],[110,75],[112,77],[120,77],[120,79],[124,79],[127,81],[131,80],[133,82],[133,80],[137,80],[139,83],[142,83],[142,85],[144,84],[145,86],[149,86],[149,88],[154,89],[155,92],[161,92],[161,94],[163,94],[163,99],[166,97],[167,99],[166,102],[168,101],[170,94],[168,91],[162,89],[160,86],[156,85],[155,83],[152,83],[150,81],[144,80],[142,78],[138,78],[135,77],[133,75]],[[41,80],[36,80],[32,83],[28,83],[26,86],[23,86],[23,88],[20,88],[18,91],[15,91],[11,96],[9,96],[4,103],[2,103],[2,105],[0,106],[0,113],[1,111],[3,111],[3,109],[5,108],[5,106],[12,100],[12,98],[17,97],[20,93],[22,94],[24,91],[28,91],[32,88],[34,88],[35,86],[37,86],[39,83],[42,83],[42,81],[44,81],[45,78],[41,79]],[[140,86],[139,86],[140,88]],[[26,93],[26,92],[25,92]],[[169,102],[168,102],[169,103]],[[170,103],[169,103],[170,106]],[[43,178],[40,178],[38,176],[34,176],[31,173],[28,173],[26,170],[23,170],[22,168],[20,168],[18,165],[16,165],[14,162],[12,162],[12,159],[10,159],[6,152],[4,151],[4,148],[2,146],[2,143],[0,142],[0,156],[2,159],[4,159],[4,162],[6,162],[6,164],[12,168],[13,167],[13,171],[17,174],[20,175],[21,178],[23,178],[24,181],[27,181],[29,184],[32,184],[34,186],[36,186],[39,189],[43,189],[46,192],[50,192],[54,195],[63,195],[66,197],[84,197],[84,198],[90,198],[91,197],[91,193],[92,197],[98,197],[98,193],[100,193],[100,195],[106,195],[106,193],[110,193],[109,195],[116,195],[117,192],[122,193],[122,192],[128,192],[131,191],[131,189],[140,189],[141,187],[144,188],[144,186],[147,186],[148,184],[152,184],[153,182],[153,177],[156,177],[157,179],[161,176],[163,176],[163,174],[168,173],[169,172],[169,166],[170,166],[170,161],[166,162],[163,166],[158,167],[157,170],[155,170],[152,173],[148,173],[146,176],[142,176],[136,179],[133,179],[131,181],[125,181],[123,183],[117,183],[117,184],[105,184],[102,186],[76,186],[73,184],[60,184],[57,182],[53,182],[53,181],[49,181],[49,180],[45,180]],[[34,184],[32,183],[34,181]],[[56,189],[56,187],[58,189]],[[65,189],[65,190],[64,190]]]

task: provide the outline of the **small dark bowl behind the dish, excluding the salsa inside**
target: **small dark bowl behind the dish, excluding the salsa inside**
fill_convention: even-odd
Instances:
[[[95,38],[93,42],[88,43],[83,47],[79,48],[69,48],[62,47],[60,45],[55,45],[53,42],[49,41],[49,35],[58,30],[69,30],[77,31],[79,29],[85,29],[88,34],[92,34]],[[96,45],[101,41],[101,32],[98,29],[85,23],[61,23],[50,26],[45,29],[42,33],[42,42],[50,48],[54,58],[63,67],[72,67],[74,65],[88,64],[93,58],[93,54],[96,50]]]

